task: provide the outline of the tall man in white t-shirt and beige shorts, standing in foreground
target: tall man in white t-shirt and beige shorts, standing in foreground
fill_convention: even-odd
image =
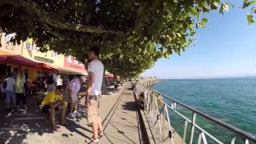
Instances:
[[[104,136],[102,129],[102,120],[99,116],[99,97],[102,94],[102,79],[104,73],[104,66],[99,58],[98,46],[90,48],[89,52],[90,63],[88,65],[89,82],[86,90],[86,108],[88,122],[92,123],[93,138],[86,142],[98,143],[99,137]],[[98,134],[99,131],[99,134]]]

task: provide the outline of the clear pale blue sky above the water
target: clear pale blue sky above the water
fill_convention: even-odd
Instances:
[[[238,1],[235,1],[238,2]],[[242,0],[224,15],[218,10],[204,14],[205,28],[199,28],[194,42],[181,55],[160,58],[142,77],[220,78],[256,75],[256,23],[246,21],[248,10]]]

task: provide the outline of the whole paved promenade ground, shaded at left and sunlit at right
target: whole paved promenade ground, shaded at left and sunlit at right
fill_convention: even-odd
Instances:
[[[101,117],[106,137],[101,143],[140,143],[142,134],[138,122],[137,105],[130,85],[122,86],[111,95],[102,95]],[[92,136],[86,120],[84,99],[79,104],[80,115],[67,119],[69,126],[62,132],[53,132],[50,120],[38,110],[24,111],[22,114],[0,114],[0,143],[28,144],[71,144],[84,143]]]

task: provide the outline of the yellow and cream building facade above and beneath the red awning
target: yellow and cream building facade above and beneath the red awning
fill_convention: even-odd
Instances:
[[[57,54],[53,50],[42,53],[39,51],[38,46],[36,46],[32,38],[28,38],[26,42],[21,42],[20,45],[13,45],[10,43],[10,38],[14,36],[14,34],[6,35],[0,33],[0,55],[21,55],[34,62],[45,63],[46,65],[59,70],[59,72],[63,74],[87,74],[85,66],[81,62],[78,62],[74,57],[65,58],[63,54]],[[45,70],[39,70],[29,66],[0,64],[0,74],[7,76],[11,71],[16,72],[19,68],[25,71],[26,78],[29,78],[31,81],[34,81],[35,78],[42,77],[47,73]]]

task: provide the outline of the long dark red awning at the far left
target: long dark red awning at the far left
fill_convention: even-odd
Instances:
[[[44,63],[31,61],[30,59],[24,58],[21,55],[0,55],[0,63],[1,64],[18,64],[18,65],[25,65],[25,66],[38,68],[41,70],[57,71],[51,66],[48,66]]]

